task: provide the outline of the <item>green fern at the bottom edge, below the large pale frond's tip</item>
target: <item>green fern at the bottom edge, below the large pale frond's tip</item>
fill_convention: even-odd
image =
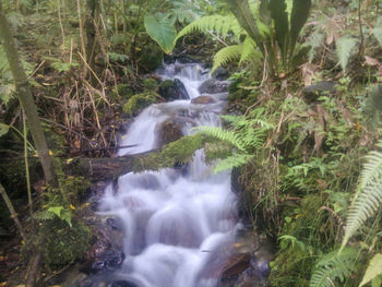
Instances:
[[[309,286],[333,287],[335,280],[344,282],[354,268],[356,254],[355,249],[347,248],[342,253],[335,250],[321,256],[313,268]]]

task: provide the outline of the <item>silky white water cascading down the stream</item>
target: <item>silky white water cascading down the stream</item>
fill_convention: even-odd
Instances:
[[[190,98],[195,98],[208,73],[199,64],[175,63],[165,67],[162,76],[178,77]],[[195,125],[218,127],[217,113],[226,95],[212,97],[215,103],[208,105],[175,100],[146,108],[120,142],[135,146],[120,150],[118,156],[157,147],[156,125],[166,119],[181,119],[184,135]],[[218,267],[212,263],[218,266],[216,261],[227,253],[237,212],[229,172],[214,175],[212,169],[204,163],[203,151],[196,151],[183,168],[131,172],[106,189],[99,213],[120,217],[124,226],[126,260],[118,271],[120,278],[140,287],[216,286]]]

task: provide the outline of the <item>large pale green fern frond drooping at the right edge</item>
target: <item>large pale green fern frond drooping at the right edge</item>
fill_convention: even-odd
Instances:
[[[377,146],[382,147],[382,141]],[[358,191],[349,207],[342,249],[382,203],[382,153],[373,151],[366,158],[368,163],[363,165]]]

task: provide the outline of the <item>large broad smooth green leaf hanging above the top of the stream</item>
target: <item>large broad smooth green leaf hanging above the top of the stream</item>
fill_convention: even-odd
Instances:
[[[144,17],[144,26],[148,36],[154,39],[166,53],[172,51],[177,31],[175,29],[171,19],[160,14],[148,14]]]

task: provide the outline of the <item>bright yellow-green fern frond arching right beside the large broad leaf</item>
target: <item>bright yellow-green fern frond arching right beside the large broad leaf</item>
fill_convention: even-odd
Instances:
[[[239,38],[239,36],[244,32],[238,21],[232,15],[211,15],[198,19],[183,27],[177,35],[176,41],[183,37],[184,35],[191,34],[195,31],[200,32],[211,32],[222,35],[224,38],[227,36],[228,32],[232,32],[234,35]]]

